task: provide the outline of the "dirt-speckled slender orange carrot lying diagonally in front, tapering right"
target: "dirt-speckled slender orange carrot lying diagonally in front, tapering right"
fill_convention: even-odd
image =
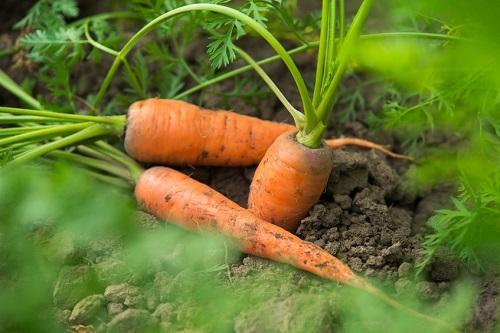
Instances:
[[[181,227],[211,230],[235,239],[243,252],[291,264],[354,286],[365,282],[320,247],[257,218],[209,186],[167,167],[146,170],[135,196],[149,213]]]

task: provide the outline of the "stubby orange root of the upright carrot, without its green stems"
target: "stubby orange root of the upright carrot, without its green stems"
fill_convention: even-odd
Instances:
[[[326,187],[331,150],[311,149],[280,135],[260,162],[250,185],[248,209],[257,217],[295,231]]]

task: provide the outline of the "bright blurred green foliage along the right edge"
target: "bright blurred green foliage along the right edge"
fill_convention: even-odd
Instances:
[[[492,258],[473,254],[500,250],[495,227],[500,217],[495,185],[500,174],[500,4],[388,0],[379,5],[389,10],[375,19],[393,30],[413,26],[452,38],[363,41],[356,57],[360,67],[403,92],[387,100],[371,123],[420,147],[408,172],[410,187],[452,183],[468,193],[455,200],[455,209],[438,211],[432,219],[427,261],[437,247],[447,246],[474,267],[495,263],[498,269]]]

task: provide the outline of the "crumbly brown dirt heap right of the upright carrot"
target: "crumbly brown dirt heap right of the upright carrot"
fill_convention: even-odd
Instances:
[[[323,201],[297,234],[325,248],[366,276],[396,280],[413,262],[422,237],[399,190],[400,176],[373,151],[336,150]]]

